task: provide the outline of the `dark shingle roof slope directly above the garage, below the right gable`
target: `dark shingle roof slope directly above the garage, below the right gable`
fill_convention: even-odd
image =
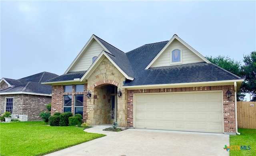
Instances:
[[[192,83],[242,79],[212,63],[200,62],[143,70],[124,86]]]

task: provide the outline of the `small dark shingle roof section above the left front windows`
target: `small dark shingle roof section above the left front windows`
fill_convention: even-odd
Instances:
[[[72,71],[70,73],[66,73],[64,75],[60,75],[58,77],[55,77],[54,79],[50,79],[46,82],[57,82],[57,81],[70,81],[74,79],[81,79],[86,71]]]

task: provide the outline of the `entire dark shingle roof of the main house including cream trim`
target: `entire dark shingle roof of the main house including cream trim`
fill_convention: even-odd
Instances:
[[[80,55],[82,55],[84,49],[90,45],[92,39],[95,39],[102,47],[104,47],[104,50],[100,53],[96,61],[92,63],[88,70],[84,71],[84,75],[81,73],[82,77],[80,75],[78,77],[79,79],[74,80],[74,75],[67,75],[69,72],[66,72],[72,67],[72,65],[74,65],[74,62],[78,60]],[[185,47],[192,51],[192,53],[202,59],[203,62],[150,68],[154,61],[156,61],[156,59],[174,41],[174,39],[182,43]],[[195,49],[190,47],[190,45],[180,39],[176,34],[174,34],[174,36],[169,41],[145,44],[127,53],[117,49],[103,39],[92,35],[92,37],[86,43],[82,51],[80,51],[64,75],[61,75],[60,77],[47,81],[43,84],[52,85],[62,83],[62,81],[68,81],[68,83],[78,83],[79,81],[86,82],[86,79],[88,79],[90,74],[105,57],[107,57],[111,63],[126,77],[127,81],[123,85],[124,88],[141,86],[152,87],[154,85],[159,87],[159,85],[166,84],[180,85],[188,83],[208,83],[208,85],[209,83],[222,83],[222,85],[224,85],[224,83],[234,84],[234,82],[242,83],[242,81],[244,81],[242,78],[210,63],[210,61],[208,61]]]

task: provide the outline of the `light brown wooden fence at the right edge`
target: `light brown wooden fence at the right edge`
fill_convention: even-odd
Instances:
[[[256,129],[256,102],[237,102],[238,128]]]

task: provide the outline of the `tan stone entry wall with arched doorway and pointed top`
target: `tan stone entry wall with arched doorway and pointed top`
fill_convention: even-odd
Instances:
[[[92,125],[103,123],[106,118],[105,115],[108,113],[104,113],[104,115],[100,115],[102,110],[106,110],[105,103],[106,101],[102,101],[102,97],[104,95],[109,98],[109,95],[104,94],[103,90],[100,93],[100,87],[104,85],[115,85],[120,88],[122,91],[122,97],[117,100],[117,122],[119,126],[127,126],[127,107],[126,107],[126,93],[125,90],[122,89],[123,81],[126,78],[120,71],[105,57],[100,65],[96,67],[94,72],[88,78],[88,89],[90,89],[92,93],[92,98],[88,99],[88,122]],[[101,96],[102,95],[102,96]],[[103,106],[103,107],[102,107]],[[110,113],[110,112],[109,112]]]

